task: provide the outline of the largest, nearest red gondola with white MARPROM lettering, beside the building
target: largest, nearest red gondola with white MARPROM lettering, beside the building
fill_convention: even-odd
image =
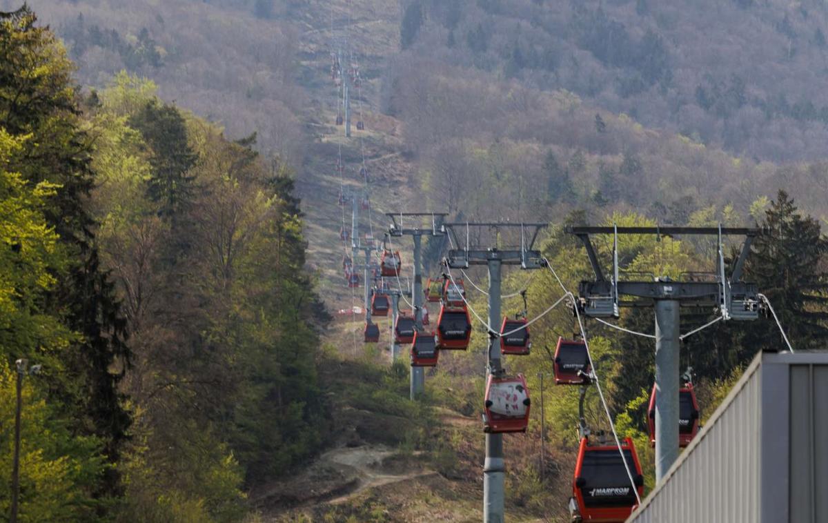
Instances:
[[[570,500],[574,521],[621,523],[638,503],[635,491],[639,497],[644,496],[644,477],[632,439],[621,441],[621,452],[632,473],[632,482],[618,447],[590,445],[588,439],[580,440]]]

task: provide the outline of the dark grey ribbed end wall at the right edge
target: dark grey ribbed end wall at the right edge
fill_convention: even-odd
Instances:
[[[790,521],[828,521],[828,365],[791,366]]]

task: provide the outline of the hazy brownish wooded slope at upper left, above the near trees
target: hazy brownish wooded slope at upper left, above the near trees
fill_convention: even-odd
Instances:
[[[0,9],[18,7],[0,0]],[[81,84],[101,87],[126,69],[229,136],[258,132],[262,151],[300,162],[306,94],[294,82],[297,36],[289,24],[205,2],[29,2],[61,36]]]

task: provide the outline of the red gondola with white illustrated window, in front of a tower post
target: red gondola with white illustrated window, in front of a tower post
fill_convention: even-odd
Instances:
[[[526,432],[529,424],[529,389],[522,374],[493,377],[486,383],[484,431]]]

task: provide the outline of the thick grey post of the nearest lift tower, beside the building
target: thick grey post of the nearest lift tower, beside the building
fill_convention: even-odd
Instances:
[[[679,302],[656,300],[656,482],[678,458]]]

